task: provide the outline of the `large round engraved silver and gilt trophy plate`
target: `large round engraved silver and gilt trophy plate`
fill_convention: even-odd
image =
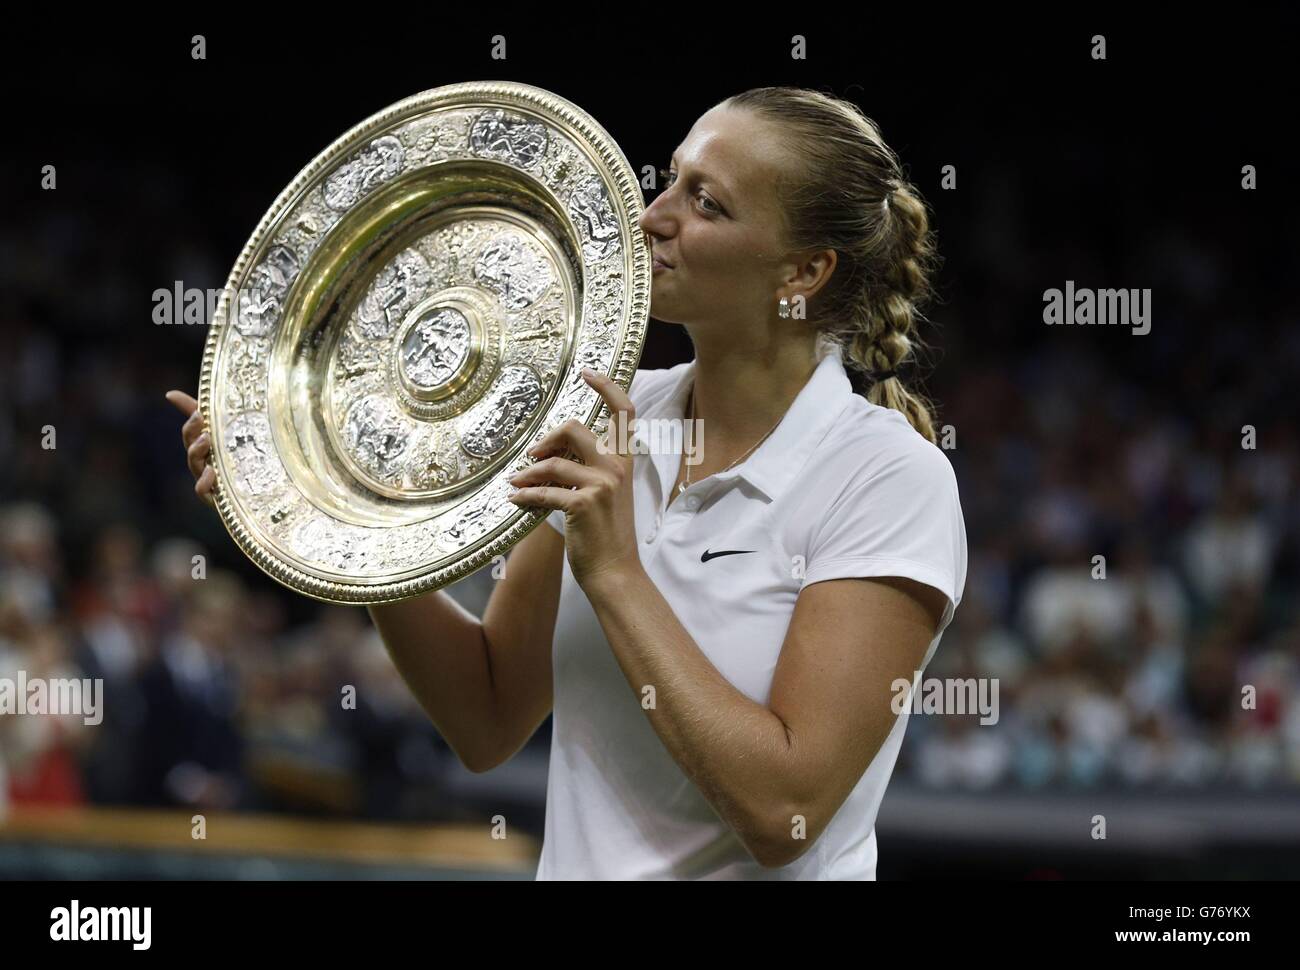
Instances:
[[[377,603],[484,567],[546,515],[525,451],[608,420],[650,309],[642,195],[549,91],[473,82],[356,125],[276,199],[230,273],[199,407],[216,505],[286,586]]]

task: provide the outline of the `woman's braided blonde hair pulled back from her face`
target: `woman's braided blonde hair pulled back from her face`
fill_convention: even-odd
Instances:
[[[920,307],[933,298],[940,257],[920,192],[904,177],[880,129],[853,101],[801,87],[755,87],[722,101],[774,122],[802,163],[777,182],[796,250],[835,250],[836,268],[809,302],[809,319],[867,376],[909,363],[927,345]],[[875,381],[872,404],[901,411],[931,443],[935,406],[900,377]]]

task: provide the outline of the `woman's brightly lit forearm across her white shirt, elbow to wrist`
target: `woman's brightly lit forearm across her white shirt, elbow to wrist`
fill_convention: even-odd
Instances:
[[[644,571],[593,580],[585,590],[668,753],[760,857],[788,833],[793,811],[784,784],[792,768],[785,724],[714,667]]]

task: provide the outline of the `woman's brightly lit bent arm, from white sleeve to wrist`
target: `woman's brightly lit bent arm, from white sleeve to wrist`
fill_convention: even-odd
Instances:
[[[637,700],[654,688],[645,713],[664,746],[767,867],[815,843],[871,765],[898,716],[892,685],[911,683],[946,603],[902,577],[806,586],[764,707],[712,666],[644,571],[603,573],[586,593]]]

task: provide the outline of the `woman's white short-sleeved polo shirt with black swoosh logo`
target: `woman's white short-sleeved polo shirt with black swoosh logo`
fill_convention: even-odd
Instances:
[[[928,664],[966,585],[966,527],[948,456],[901,412],[854,394],[835,345],[823,342],[819,355],[767,441],[671,506],[680,450],[633,459],[646,572],[719,672],[763,705],[802,586],[907,576],[941,590],[948,605]],[[637,371],[637,416],[681,420],[693,378],[694,361]],[[563,533],[563,511],[547,521]],[[746,551],[703,558],[728,550]],[[875,879],[876,811],[910,710],[809,850],[764,869],[663,746],[567,558],[552,663],[537,879]]]

